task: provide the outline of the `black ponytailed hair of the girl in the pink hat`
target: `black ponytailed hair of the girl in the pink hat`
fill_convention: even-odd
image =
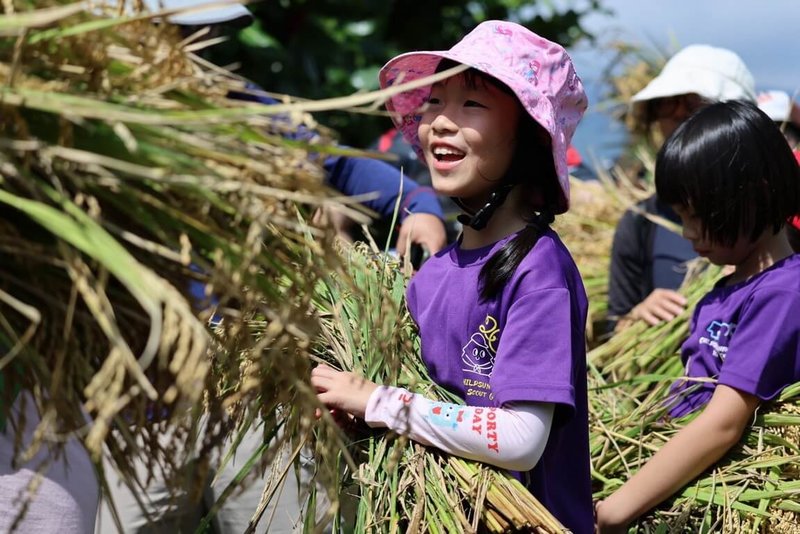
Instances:
[[[457,65],[459,63],[455,61],[442,59],[436,72]],[[459,76],[463,76],[464,83],[468,87],[480,87],[481,84],[488,83],[513,96],[517,101],[520,110],[517,147],[506,175],[498,180],[497,185],[518,184],[525,188],[528,195],[538,198],[537,204],[531,206],[538,213],[530,213],[525,229],[495,252],[481,269],[480,297],[486,301],[503,290],[503,286],[514,275],[519,264],[555,219],[554,213],[563,211],[559,208],[566,199],[562,198],[561,186],[558,183],[550,134],[522,107],[514,91],[500,80],[474,68],[465,70]]]

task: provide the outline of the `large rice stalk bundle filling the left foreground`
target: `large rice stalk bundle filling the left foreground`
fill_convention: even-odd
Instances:
[[[198,66],[151,16],[3,6],[0,422],[21,435],[20,390],[43,413],[19,457],[80,430],[129,481],[137,456],[170,480],[238,421],[311,406],[291,385],[317,328],[311,288],[336,258],[302,221],[333,201],[310,147],[281,136],[291,121],[226,99],[241,84]],[[189,296],[192,281],[205,295]],[[267,335],[252,335],[255,315]],[[265,435],[278,424],[267,418]]]

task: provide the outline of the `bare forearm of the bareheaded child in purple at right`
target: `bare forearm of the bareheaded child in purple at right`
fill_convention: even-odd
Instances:
[[[620,489],[597,504],[599,532],[627,525],[714,464],[739,440],[760,400],[718,385],[708,406]]]

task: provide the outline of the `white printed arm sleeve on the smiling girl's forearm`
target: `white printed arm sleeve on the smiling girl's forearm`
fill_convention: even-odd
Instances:
[[[371,427],[388,427],[449,454],[528,471],[544,452],[553,410],[553,403],[537,402],[504,408],[462,406],[380,386],[370,395],[364,419]]]

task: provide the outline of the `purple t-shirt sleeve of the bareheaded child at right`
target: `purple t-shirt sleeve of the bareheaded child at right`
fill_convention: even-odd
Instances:
[[[763,401],[800,381],[800,293],[756,290],[731,336],[719,383]]]

